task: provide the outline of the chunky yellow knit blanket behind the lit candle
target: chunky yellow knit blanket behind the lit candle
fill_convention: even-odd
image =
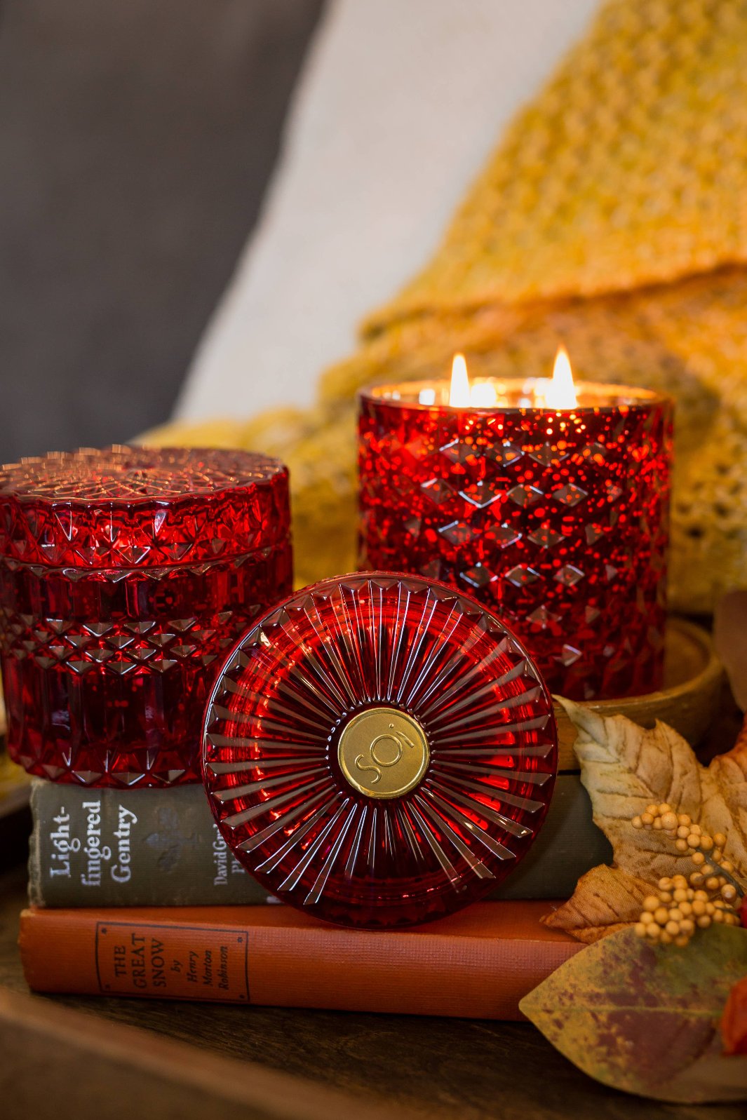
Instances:
[[[370,317],[318,404],[151,442],[253,447],[291,468],[300,582],[355,567],[355,391],[547,375],[678,401],[671,600],[747,585],[747,3],[610,0],[514,120],[428,267]]]

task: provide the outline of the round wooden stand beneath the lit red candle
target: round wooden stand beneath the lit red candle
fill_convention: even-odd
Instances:
[[[708,633],[683,618],[670,618],[666,625],[664,688],[643,697],[625,700],[599,700],[583,704],[600,716],[627,716],[642,727],[656,720],[669,724],[697,747],[716,719],[721,694],[723,669]],[[560,704],[555,704],[560,746],[559,769],[577,771],[573,754],[576,728]]]

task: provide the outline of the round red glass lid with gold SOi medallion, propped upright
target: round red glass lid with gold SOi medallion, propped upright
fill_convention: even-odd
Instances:
[[[552,795],[552,701],[484,607],[429,580],[345,576],[269,612],[226,661],[204,777],[271,894],[340,925],[440,917],[494,889]]]

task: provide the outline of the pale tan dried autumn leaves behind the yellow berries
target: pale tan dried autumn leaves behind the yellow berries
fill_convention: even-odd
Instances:
[[[747,883],[747,736],[706,767],[665,724],[645,730],[624,716],[603,717],[570,700],[560,702],[578,731],[581,781],[595,823],[611,842],[613,867],[579,879],[573,897],[547,916],[547,925],[590,943],[636,921],[644,885],[693,870],[690,858],[662,832],[632,827],[632,818],[651,802],[669,802],[711,836],[722,832],[725,856],[737,879]]]

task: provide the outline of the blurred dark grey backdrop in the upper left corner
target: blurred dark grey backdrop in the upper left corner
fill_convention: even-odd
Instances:
[[[168,417],[320,8],[2,0],[0,463]]]

